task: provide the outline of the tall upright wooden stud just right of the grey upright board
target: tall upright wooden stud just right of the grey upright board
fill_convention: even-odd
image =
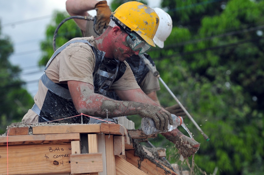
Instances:
[[[107,175],[116,175],[113,135],[105,135],[105,154]]]

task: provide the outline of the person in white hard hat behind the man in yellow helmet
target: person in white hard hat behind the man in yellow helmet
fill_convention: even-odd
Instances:
[[[96,23],[94,21],[80,20],[74,18],[74,21],[79,26],[82,31],[84,37],[95,36],[98,37],[101,35],[105,28],[108,27],[110,22],[111,10],[107,5],[107,1],[97,1],[97,0],[67,0],[66,1],[66,9],[70,16],[91,16],[87,11],[96,9]],[[155,12],[159,15],[160,25],[156,32],[155,37],[153,38],[154,43],[160,48],[164,47],[164,41],[170,35],[172,31],[172,20],[168,13],[163,11],[160,8],[153,8]],[[166,32],[164,32],[166,31]],[[144,54],[144,56],[155,65],[154,61],[148,54]],[[138,55],[133,55],[130,58],[126,59],[126,62],[131,67],[135,79],[143,90],[145,94],[149,96],[152,100],[154,100],[158,105],[160,102],[157,98],[157,90],[160,90],[159,80],[157,77],[153,75],[153,73],[148,69],[145,65],[142,58]],[[112,99],[120,100],[120,98],[116,95],[114,91],[110,91],[107,93],[107,96]],[[173,106],[165,108],[171,114],[175,114],[177,116],[185,116],[185,112],[181,109],[180,105],[175,104]]]

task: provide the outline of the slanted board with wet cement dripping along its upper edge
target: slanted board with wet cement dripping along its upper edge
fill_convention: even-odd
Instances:
[[[126,151],[126,160],[131,163],[133,166],[138,167],[140,170],[147,174],[153,175],[164,175],[166,174],[165,170],[158,167],[156,164],[152,163],[148,159],[141,161],[141,158],[134,155],[134,150]]]

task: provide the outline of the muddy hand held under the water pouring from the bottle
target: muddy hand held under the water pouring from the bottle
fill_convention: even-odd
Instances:
[[[184,157],[190,157],[195,154],[200,148],[200,143],[196,142],[194,139],[187,137],[177,128],[170,132],[161,133],[166,139],[176,145],[178,152]]]

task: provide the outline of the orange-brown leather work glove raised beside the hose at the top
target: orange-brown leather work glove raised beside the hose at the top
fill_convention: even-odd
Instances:
[[[101,35],[103,33],[103,28],[105,26],[106,28],[108,27],[108,24],[110,22],[111,10],[106,1],[100,1],[95,4],[95,9],[97,12],[95,30],[99,35]]]

